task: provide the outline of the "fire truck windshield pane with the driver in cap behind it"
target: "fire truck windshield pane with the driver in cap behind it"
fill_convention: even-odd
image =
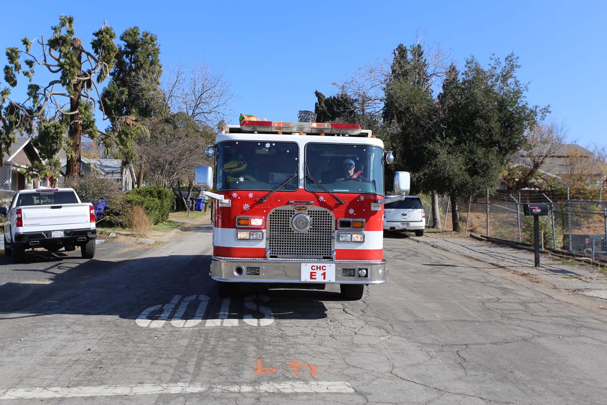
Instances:
[[[384,151],[377,146],[337,143],[308,143],[305,163],[312,177],[332,192],[384,194]],[[308,191],[322,189],[310,179]]]

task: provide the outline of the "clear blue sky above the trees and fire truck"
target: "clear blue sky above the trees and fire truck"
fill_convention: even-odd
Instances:
[[[607,143],[603,1],[72,3],[5,2],[0,64],[5,47],[23,36],[48,37],[62,13],[75,17],[76,35],[87,43],[106,19],[117,35],[135,25],[155,33],[165,65],[206,62],[223,70],[238,96],[228,123],[240,112],[287,121],[300,109],[314,109],[314,90],[333,94],[332,82],[390,57],[399,43],[412,44],[421,33],[427,45],[450,50],[458,66],[470,55],[486,63],[492,53],[516,53],[531,104],[550,104],[569,140]]]

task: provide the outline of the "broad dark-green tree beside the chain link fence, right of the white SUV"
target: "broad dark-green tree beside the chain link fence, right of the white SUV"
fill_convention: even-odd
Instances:
[[[438,97],[441,136],[430,151],[435,158],[424,178],[452,201],[453,230],[459,230],[457,197],[484,193],[500,182],[509,155],[523,146],[525,132],[548,109],[529,106],[527,86],[515,73],[517,57],[492,58],[483,69],[466,61],[461,78],[454,66]]]

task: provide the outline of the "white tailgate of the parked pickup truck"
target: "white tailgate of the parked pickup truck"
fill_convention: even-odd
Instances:
[[[61,229],[73,226],[73,228],[89,228],[90,226],[89,204],[64,204],[64,205],[41,205],[21,207],[23,217],[23,228],[35,227],[36,230]]]

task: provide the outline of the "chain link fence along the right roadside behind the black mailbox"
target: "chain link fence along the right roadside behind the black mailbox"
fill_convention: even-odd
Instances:
[[[427,224],[432,224],[432,199],[422,196]],[[540,245],[588,257],[607,259],[607,202],[571,200],[567,196],[524,190],[487,192],[458,199],[459,228],[514,242],[533,243],[533,217],[524,216],[523,204],[547,203],[548,216],[540,217]],[[440,230],[452,231],[449,196],[439,197]]]

